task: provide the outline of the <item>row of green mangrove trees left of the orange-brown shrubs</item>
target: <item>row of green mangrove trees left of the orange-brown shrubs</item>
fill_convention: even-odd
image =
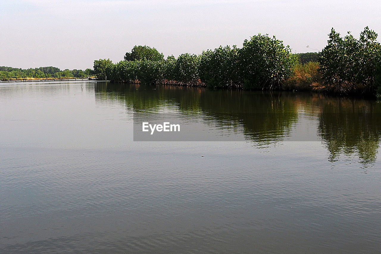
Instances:
[[[106,72],[116,81],[166,80],[189,85],[201,80],[211,88],[242,87],[244,83],[248,89],[273,89],[290,77],[298,56],[291,54],[290,48],[275,37],[256,35],[250,41],[245,40],[242,49],[220,46],[200,56],[186,53],[177,59],[169,56],[164,60],[155,48],[134,46],[124,59],[114,66],[114,73],[107,74],[113,67],[106,59],[94,61],[94,71]]]

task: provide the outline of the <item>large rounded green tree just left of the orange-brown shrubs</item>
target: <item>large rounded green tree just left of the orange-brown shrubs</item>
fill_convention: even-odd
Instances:
[[[240,77],[244,88],[274,89],[291,77],[298,59],[289,46],[268,35],[255,35],[245,40],[240,50]]]

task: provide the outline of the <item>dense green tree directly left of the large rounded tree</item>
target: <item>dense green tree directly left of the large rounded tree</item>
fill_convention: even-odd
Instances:
[[[211,88],[239,86],[238,62],[239,49],[236,46],[219,46],[214,51],[204,51],[200,56],[200,79]]]

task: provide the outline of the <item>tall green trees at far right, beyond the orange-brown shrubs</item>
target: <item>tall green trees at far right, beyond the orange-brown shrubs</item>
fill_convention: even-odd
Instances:
[[[327,88],[341,94],[375,90],[376,69],[381,61],[375,31],[365,27],[357,40],[350,32],[340,37],[332,28],[329,37],[328,45],[320,53]]]

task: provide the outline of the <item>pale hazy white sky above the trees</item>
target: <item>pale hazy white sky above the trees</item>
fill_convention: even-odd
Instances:
[[[242,46],[276,35],[293,52],[319,51],[331,27],[381,36],[379,0],[0,0],[0,65],[93,67],[123,59],[134,45],[165,56]],[[307,47],[307,45],[309,47]]]

